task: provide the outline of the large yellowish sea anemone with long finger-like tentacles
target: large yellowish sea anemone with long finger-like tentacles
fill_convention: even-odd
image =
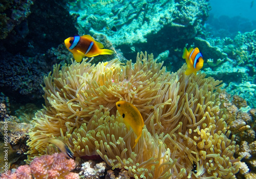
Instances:
[[[52,152],[45,141],[60,138],[74,156],[99,155],[112,168],[135,178],[232,178],[238,150],[227,131],[219,99],[220,81],[204,74],[185,76],[185,65],[169,73],[153,55],[136,63],[118,59],[55,65],[45,77],[46,106],[36,113],[28,162]],[[115,103],[125,100],[140,111],[145,126],[138,144]]]

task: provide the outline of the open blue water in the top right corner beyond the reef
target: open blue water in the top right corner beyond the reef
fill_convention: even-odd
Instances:
[[[256,29],[256,4],[245,1],[210,1],[211,10],[205,26],[214,37],[231,37]]]

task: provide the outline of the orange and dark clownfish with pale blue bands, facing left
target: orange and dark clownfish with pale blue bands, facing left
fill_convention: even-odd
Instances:
[[[65,45],[77,62],[82,61],[84,57],[114,53],[112,50],[103,49],[103,44],[95,41],[90,35],[69,37],[65,40]]]

